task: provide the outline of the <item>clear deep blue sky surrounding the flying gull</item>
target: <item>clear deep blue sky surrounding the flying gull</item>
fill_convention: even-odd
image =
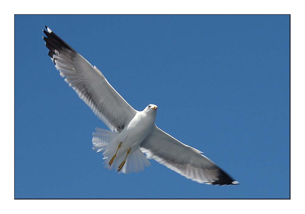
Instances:
[[[289,21],[15,16],[15,198],[289,198]],[[154,160],[136,174],[106,169],[91,134],[107,127],[59,76],[45,25],[240,185],[199,184]]]

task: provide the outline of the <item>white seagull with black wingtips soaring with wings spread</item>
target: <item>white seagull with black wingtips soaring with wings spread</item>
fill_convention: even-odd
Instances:
[[[239,184],[203,152],[158,128],[155,124],[156,105],[149,104],[143,111],[135,110],[98,68],[50,28],[45,28],[46,37],[43,36],[43,39],[60,76],[110,129],[95,128],[92,133],[93,150],[102,152],[106,168],[114,168],[118,173],[136,173],[150,165],[148,159],[153,159],[198,183]]]

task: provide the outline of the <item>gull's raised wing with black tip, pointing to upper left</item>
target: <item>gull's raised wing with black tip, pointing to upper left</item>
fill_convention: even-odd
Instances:
[[[50,28],[43,37],[59,74],[111,131],[121,132],[136,110],[108,83],[95,66],[60,39]]]

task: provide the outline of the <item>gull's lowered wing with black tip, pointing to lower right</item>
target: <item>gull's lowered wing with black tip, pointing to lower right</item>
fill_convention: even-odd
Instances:
[[[187,146],[158,127],[140,144],[140,149],[149,159],[154,159],[167,168],[198,183],[235,185],[227,173],[199,150]]]

